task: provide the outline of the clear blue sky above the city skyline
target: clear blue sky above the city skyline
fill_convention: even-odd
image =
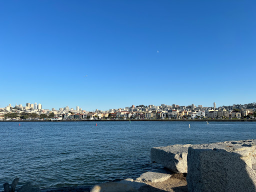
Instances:
[[[1,0],[0,107],[255,102],[255,0]]]

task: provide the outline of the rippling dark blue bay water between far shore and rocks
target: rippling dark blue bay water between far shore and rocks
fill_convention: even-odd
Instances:
[[[190,124],[190,128],[188,127]],[[40,188],[136,178],[160,167],[150,148],[256,138],[256,122],[0,122],[0,185]]]

